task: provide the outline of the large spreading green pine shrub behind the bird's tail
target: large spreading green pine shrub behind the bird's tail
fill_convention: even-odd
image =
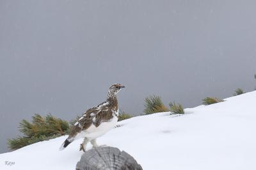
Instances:
[[[29,144],[49,140],[67,134],[69,124],[65,120],[55,118],[51,114],[45,117],[40,114],[32,116],[32,121],[20,121],[19,130],[23,136],[14,139],[7,139],[10,150],[17,150]]]

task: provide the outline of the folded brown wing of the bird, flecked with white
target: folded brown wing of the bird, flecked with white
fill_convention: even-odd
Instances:
[[[99,127],[100,123],[109,117],[108,104],[108,102],[103,102],[84,112],[83,116],[81,116],[79,120],[77,120],[77,122],[71,127],[68,138],[75,137],[77,133],[81,132],[82,130],[86,130],[92,124],[95,125],[95,127]]]

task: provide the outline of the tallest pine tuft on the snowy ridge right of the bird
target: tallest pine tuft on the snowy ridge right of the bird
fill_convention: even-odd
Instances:
[[[161,97],[150,95],[145,98],[145,114],[152,114],[155,112],[168,112],[168,108],[163,104]]]

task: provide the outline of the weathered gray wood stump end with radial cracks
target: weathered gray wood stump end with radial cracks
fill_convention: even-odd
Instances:
[[[142,170],[140,164],[126,153],[113,147],[97,147],[86,151],[76,164],[76,170]]]

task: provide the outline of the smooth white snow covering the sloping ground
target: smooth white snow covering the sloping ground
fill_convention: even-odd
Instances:
[[[98,143],[127,151],[143,169],[255,170],[256,91],[225,100],[185,109],[180,116],[161,112],[120,121],[123,126]],[[0,169],[75,169],[83,139],[59,151],[66,137],[3,153]]]

